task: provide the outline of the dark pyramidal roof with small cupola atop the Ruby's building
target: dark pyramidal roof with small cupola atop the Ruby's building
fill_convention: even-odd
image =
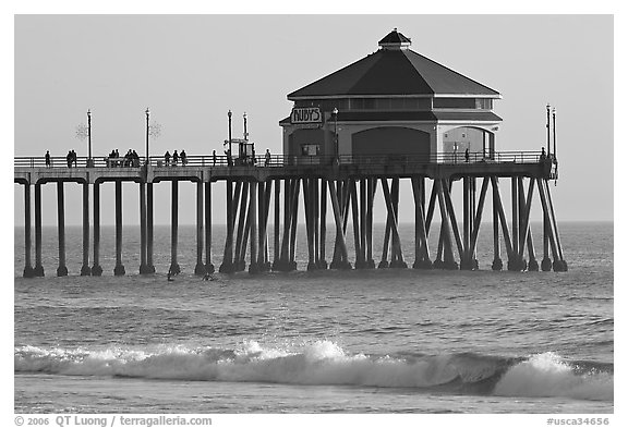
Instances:
[[[410,50],[395,28],[379,50],[288,95],[288,99],[342,96],[482,96],[500,98],[460,73]]]

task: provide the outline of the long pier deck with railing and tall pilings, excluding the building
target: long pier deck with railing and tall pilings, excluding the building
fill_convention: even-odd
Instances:
[[[555,180],[555,159],[540,152],[494,152],[491,158],[471,159],[451,154],[430,159],[408,156],[317,157],[273,156],[256,163],[228,166],[226,157],[190,156],[186,163],[165,164],[159,157],[148,164],[112,167],[109,160],[80,158],[69,168],[53,158],[46,166],[43,158],[15,158],[14,182],[24,185],[25,267],[24,277],[43,277],[41,265],[41,186],[57,185],[59,266],[57,276],[67,276],[64,188],[76,183],[83,193],[82,276],[100,276],[100,186],[113,183],[116,191],[116,266],[113,274],[123,276],[122,182],[137,183],[141,218],[141,265],[138,272],[152,274],[154,248],[154,186],[171,185],[171,262],[170,272],[180,272],[178,264],[179,183],[196,183],[196,265],[203,276],[218,270],[250,273],[297,269],[295,242],[298,216],[304,210],[307,241],[307,270],[407,268],[399,236],[399,187],[401,180],[411,183],[414,201],[414,269],[478,269],[476,247],[485,200],[493,201],[492,268],[502,270],[500,237],[506,247],[506,268],[510,271],[566,271],[556,216],[548,181]],[[502,200],[500,184],[509,182],[510,221]],[[213,243],[213,186],[225,183],[227,237],[219,250]],[[431,184],[431,185],[430,185]],[[456,212],[454,186],[462,186],[462,212]],[[35,264],[32,259],[32,186],[35,186]],[[89,218],[89,187],[93,218]],[[491,191],[490,191],[491,188]],[[282,194],[282,195],[281,195]],[[538,196],[535,196],[538,195]],[[543,212],[543,255],[541,264],[531,233],[531,206],[538,198]],[[373,212],[379,200],[386,207],[386,227],[381,258],[374,254]],[[302,205],[301,205],[302,201]],[[274,205],[271,207],[271,204]],[[330,213],[328,213],[330,207]],[[274,218],[270,218],[270,209]],[[282,213],[282,216],[281,216]],[[439,215],[440,229],[432,227]],[[327,219],[335,230],[327,230]],[[348,231],[351,218],[353,231]],[[268,224],[274,221],[274,236]],[[459,222],[460,221],[460,222]],[[90,234],[92,232],[92,234]],[[500,233],[502,232],[502,233]],[[334,248],[326,248],[326,234],[335,234]],[[352,235],[352,236],[351,236]],[[353,240],[354,254],[348,252]],[[437,240],[436,254],[430,253],[430,239]],[[273,250],[270,252],[270,246]],[[215,254],[221,254],[216,260]],[[92,256],[92,257],[90,257]],[[330,257],[330,258],[329,258]],[[329,259],[328,259],[329,258]],[[92,266],[89,266],[92,264]]]

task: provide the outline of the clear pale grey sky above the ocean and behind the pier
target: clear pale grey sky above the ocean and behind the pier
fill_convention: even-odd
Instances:
[[[147,107],[161,125],[152,155],[219,151],[228,110],[234,137],[246,112],[256,150],[278,154],[287,94],[374,52],[392,28],[412,39],[412,50],[502,94],[494,103],[504,120],[498,151],[540,150],[545,105],[555,107],[557,220],[613,220],[613,15],[16,15],[14,156],[86,156],[75,132],[87,109],[94,156],[113,148],[143,155]],[[101,187],[102,222],[112,224],[113,185]],[[215,187],[224,200],[224,184]],[[136,185],[123,188],[124,223],[135,224]],[[159,188],[155,221],[168,224],[170,185]],[[409,196],[410,186],[402,192]],[[193,207],[194,194],[191,183],[180,184],[182,206]],[[80,207],[81,195],[67,184],[67,207]],[[56,224],[56,211],[48,184],[45,224]],[[80,209],[65,212],[67,224],[81,224]],[[413,216],[402,209],[400,221]],[[214,219],[224,222],[224,209]],[[19,185],[14,221],[24,221]],[[194,209],[181,210],[180,223],[194,221]]]

